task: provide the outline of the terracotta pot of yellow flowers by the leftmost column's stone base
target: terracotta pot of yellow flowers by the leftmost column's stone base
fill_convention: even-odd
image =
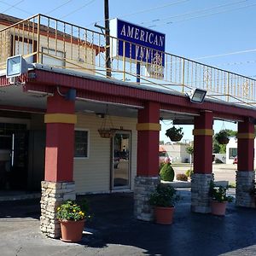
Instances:
[[[88,203],[80,205],[76,201],[64,201],[57,207],[56,217],[61,223],[61,241],[80,241],[83,236],[84,222],[88,215]]]

